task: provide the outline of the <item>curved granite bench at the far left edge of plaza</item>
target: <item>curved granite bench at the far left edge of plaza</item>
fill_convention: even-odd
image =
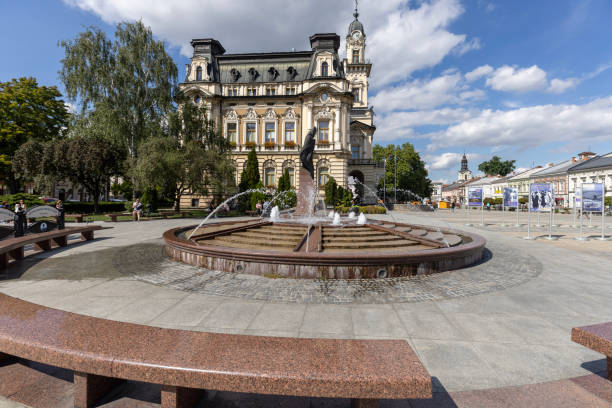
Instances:
[[[0,270],[8,267],[9,258],[20,261],[24,258],[24,247],[34,244],[39,250],[49,251],[53,245],[65,247],[68,245],[68,236],[81,234],[82,240],[91,241],[94,231],[100,230],[100,225],[88,225],[86,227],[68,227],[62,230],[43,232],[40,234],[29,234],[18,238],[9,238],[0,241]]]

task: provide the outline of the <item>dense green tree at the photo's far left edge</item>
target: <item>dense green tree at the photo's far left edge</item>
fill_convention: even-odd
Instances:
[[[12,193],[22,180],[13,171],[13,155],[28,140],[45,141],[60,135],[68,111],[56,87],[38,86],[34,78],[0,83],[0,179]]]

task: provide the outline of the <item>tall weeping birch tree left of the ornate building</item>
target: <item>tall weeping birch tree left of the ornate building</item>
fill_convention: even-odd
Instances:
[[[68,98],[80,103],[82,113],[107,107],[116,123],[110,136],[127,149],[133,166],[138,144],[161,135],[174,109],[178,71],[164,43],[139,21],[118,24],[112,42],[89,27],[60,46],[65,55],[59,74]]]

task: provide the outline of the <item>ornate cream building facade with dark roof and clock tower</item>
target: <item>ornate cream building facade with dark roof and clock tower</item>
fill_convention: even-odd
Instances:
[[[321,196],[329,177],[347,187],[354,177],[375,188],[383,169],[372,158],[376,127],[368,106],[372,65],[365,59],[366,35],[355,10],[340,59],[340,37],[314,34],[311,50],[226,54],[215,39],[194,39],[180,89],[203,104],[232,145],[236,183],[255,148],[265,186],[275,187],[285,169],[299,188],[299,151],[317,127],[315,184]],[[186,195],[181,205],[206,206]]]

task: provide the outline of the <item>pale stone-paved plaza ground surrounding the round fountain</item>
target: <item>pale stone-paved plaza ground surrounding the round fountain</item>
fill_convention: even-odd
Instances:
[[[486,238],[487,250],[481,263],[462,270],[376,281],[206,271],[162,253],[162,233],[194,220],[102,223],[113,228],[99,231],[93,242],[13,265],[8,275],[0,275],[0,291],[80,314],[164,328],[405,339],[438,393],[461,395],[602,372],[603,356],[573,343],[570,331],[612,320],[612,242],[574,240],[579,231],[571,226],[571,215],[556,217],[560,226],[553,234],[559,240],[524,240],[527,214],[520,216],[520,227],[499,226],[499,212],[486,212],[485,226],[465,226],[464,211],[377,216],[475,232]],[[477,224],[480,214],[473,212],[470,219]],[[515,219],[506,214],[507,223]],[[547,233],[547,227],[531,231],[535,237]],[[600,234],[584,229],[585,236]],[[0,406],[21,405],[0,400]]]

